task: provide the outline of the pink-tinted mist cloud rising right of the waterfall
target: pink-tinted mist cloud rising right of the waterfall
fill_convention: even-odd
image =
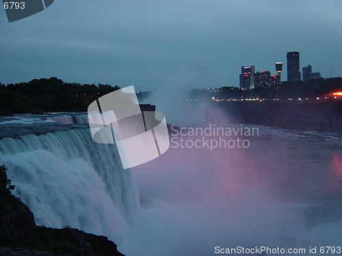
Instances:
[[[167,109],[170,102],[161,102]],[[196,111],[175,111],[178,120],[172,122],[182,127],[242,127],[229,122],[220,109],[205,106],[203,114],[192,106]],[[189,119],[194,115],[196,120]],[[310,246],[339,244],[340,211],[328,214],[328,222],[318,213],[338,200],[317,199],[314,188],[329,166],[331,152],[321,152],[318,163],[311,159],[317,148],[308,148],[308,141],[302,143],[298,134],[244,127],[260,130],[259,136],[243,138],[250,141],[248,148],[170,147],[159,158],[132,169],[142,209],[131,229],[140,246],[136,251],[131,244],[124,246],[123,251],[129,248],[127,255],[215,255],[215,246],[306,248],[304,255],[309,255]],[[171,132],[170,139],[175,135]],[[131,243],[137,245],[136,241]]]

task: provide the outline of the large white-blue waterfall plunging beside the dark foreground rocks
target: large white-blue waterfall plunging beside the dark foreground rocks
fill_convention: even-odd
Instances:
[[[86,128],[3,138],[0,163],[37,225],[68,225],[117,242],[139,205],[116,146],[94,143]]]

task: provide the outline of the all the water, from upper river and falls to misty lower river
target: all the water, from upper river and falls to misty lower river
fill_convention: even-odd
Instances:
[[[339,134],[181,128],[168,152],[123,170],[115,145],[92,141],[85,113],[1,117],[0,164],[37,225],[108,236],[127,256],[342,254]]]

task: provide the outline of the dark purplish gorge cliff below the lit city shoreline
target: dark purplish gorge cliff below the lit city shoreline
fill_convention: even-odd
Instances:
[[[213,106],[241,124],[342,134],[342,100],[213,102]]]

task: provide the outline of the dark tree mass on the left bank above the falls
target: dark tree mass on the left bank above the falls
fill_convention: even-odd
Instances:
[[[111,91],[111,85],[81,85],[61,79],[34,79],[28,83],[0,85],[0,115],[41,114],[49,111],[86,111],[88,104]]]

